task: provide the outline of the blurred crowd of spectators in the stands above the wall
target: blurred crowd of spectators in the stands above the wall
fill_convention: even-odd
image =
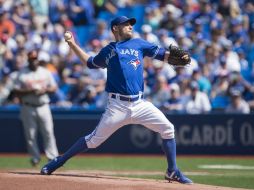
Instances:
[[[135,17],[135,37],[191,54],[186,67],[145,58],[145,97],[170,113],[254,110],[253,0],[0,0],[0,105],[18,105],[17,72],[36,49],[58,84],[51,104],[104,109],[106,69],[90,70],[64,41],[66,30],[89,54],[113,41],[114,16]]]

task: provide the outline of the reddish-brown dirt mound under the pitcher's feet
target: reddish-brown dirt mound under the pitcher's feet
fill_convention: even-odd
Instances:
[[[233,188],[201,184],[182,185],[165,180],[112,176],[105,171],[59,171],[43,176],[35,170],[0,171],[0,187],[5,190],[229,190]]]

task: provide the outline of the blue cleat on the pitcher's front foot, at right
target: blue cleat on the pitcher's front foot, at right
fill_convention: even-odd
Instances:
[[[178,169],[172,172],[166,172],[165,179],[168,180],[169,182],[176,181],[187,185],[193,184],[193,182],[185,175],[183,175],[182,172]]]

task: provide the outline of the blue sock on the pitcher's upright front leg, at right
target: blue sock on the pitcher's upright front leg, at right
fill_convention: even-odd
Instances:
[[[176,165],[176,142],[175,139],[162,139],[162,148],[165,152],[168,162],[168,172],[177,169]]]

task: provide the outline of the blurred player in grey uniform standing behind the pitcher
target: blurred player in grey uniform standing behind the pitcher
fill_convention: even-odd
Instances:
[[[52,115],[47,93],[57,89],[51,73],[39,66],[35,50],[28,53],[28,67],[17,74],[14,92],[20,98],[21,120],[24,126],[31,164],[36,166],[40,161],[40,150],[37,144],[37,132],[40,130],[46,156],[52,160],[58,156]]]

